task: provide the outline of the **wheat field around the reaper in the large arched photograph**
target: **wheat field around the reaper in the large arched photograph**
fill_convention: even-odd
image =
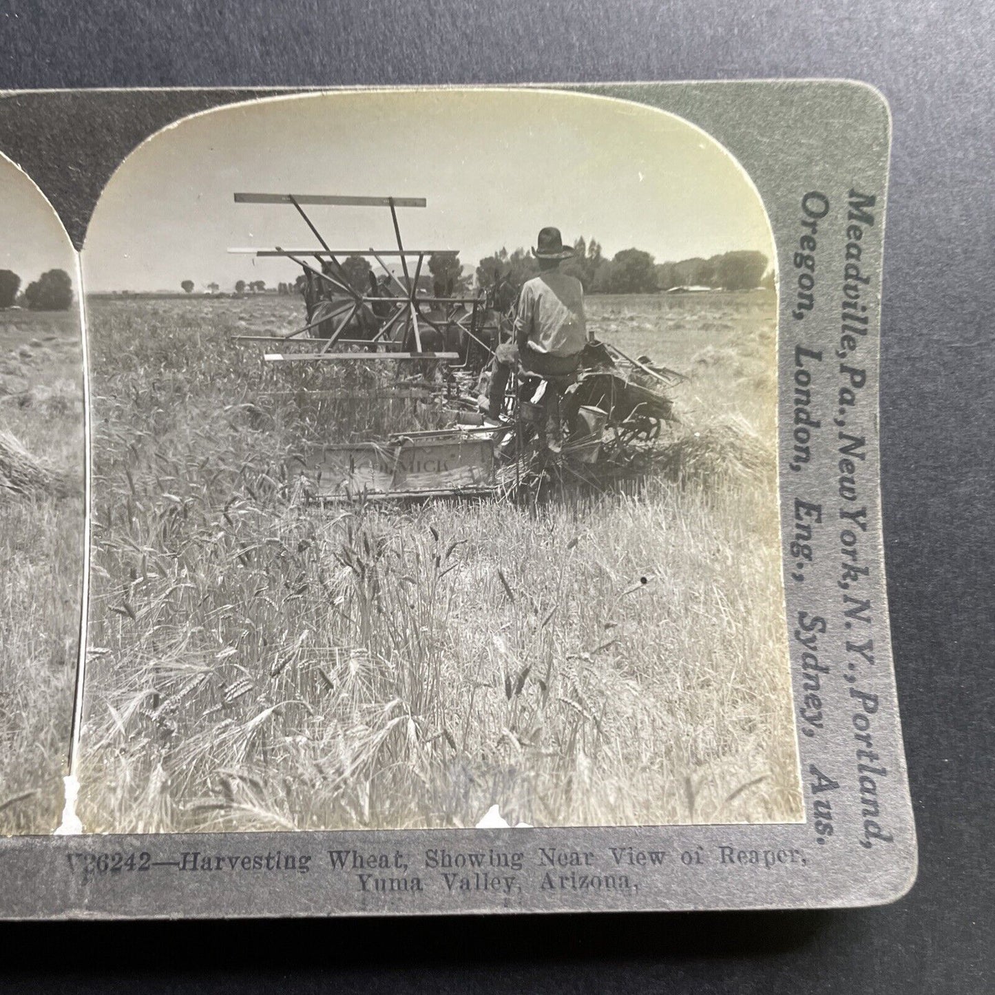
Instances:
[[[531,506],[295,499],[303,443],[441,423],[228,340],[300,310],[88,301],[86,829],[801,818],[773,294],[590,298],[683,425],[640,495]]]

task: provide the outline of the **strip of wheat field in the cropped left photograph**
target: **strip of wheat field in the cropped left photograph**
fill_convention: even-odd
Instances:
[[[84,544],[79,315],[0,310],[0,835],[51,833],[67,773]],[[13,440],[13,442],[12,442]]]

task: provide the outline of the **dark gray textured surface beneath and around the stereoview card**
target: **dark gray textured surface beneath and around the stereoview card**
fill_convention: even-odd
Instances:
[[[0,88],[842,77],[895,120],[885,530],[912,892],[834,912],[0,925],[20,991],[995,991],[995,13],[985,0],[0,0]],[[74,159],[58,142],[46,155]],[[0,233],[2,237],[2,233]]]

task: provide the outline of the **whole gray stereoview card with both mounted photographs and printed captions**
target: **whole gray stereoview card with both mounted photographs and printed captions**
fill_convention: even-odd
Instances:
[[[907,892],[890,147],[846,81],[0,96],[0,915]]]

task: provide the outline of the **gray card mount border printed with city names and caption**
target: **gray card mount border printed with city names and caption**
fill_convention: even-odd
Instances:
[[[767,208],[780,276],[785,638],[791,645],[806,821],[752,826],[11,838],[0,840],[0,917],[846,907],[893,901],[911,887],[916,871],[915,830],[897,713],[879,487],[880,302],[891,142],[887,103],[873,88],[845,81],[543,85],[539,89],[633,100],[685,117],[738,159]],[[55,149],[57,138],[63,148],[71,148],[72,141],[67,141],[66,131],[60,128],[67,118],[59,113],[29,117],[30,140],[25,139],[23,127],[15,139],[16,129],[10,122],[20,118],[23,125],[21,108],[54,108],[59,101],[64,109],[71,106],[83,154],[93,163],[102,159],[105,166],[107,157],[98,146],[101,142],[104,147],[112,146],[113,140],[105,131],[88,129],[87,123],[106,115],[110,102],[116,108],[111,120],[121,119],[121,108],[130,110],[130,137],[123,145],[118,143],[110,160],[116,164],[143,137],[191,110],[265,95],[316,92],[326,91],[10,94],[0,97],[0,151],[20,162],[47,192],[79,246],[96,195],[91,190],[74,199],[67,192],[73,188],[67,181],[69,151],[63,156],[58,150],[45,156],[30,154],[34,147]],[[149,109],[153,104],[154,113]],[[14,112],[5,113],[8,109]],[[28,161],[32,158],[35,161]],[[874,196],[874,206],[852,205],[851,191]],[[824,216],[815,217],[824,202],[819,196],[806,200],[809,193],[828,202]],[[848,217],[864,212],[873,216],[872,223]],[[803,222],[809,227],[803,227]],[[817,244],[810,250],[800,240],[812,234],[813,222]],[[848,354],[839,357],[841,334],[848,334],[841,320],[847,245],[851,245],[854,262],[856,239],[848,228],[855,224],[861,230],[856,261],[860,271],[852,275],[860,283],[849,282],[860,292],[859,304],[867,307],[861,313],[868,320],[862,325],[866,334],[855,335],[854,344],[847,346]],[[797,252],[816,257],[815,306],[811,311],[798,310],[800,317],[793,316],[802,272],[794,265]],[[807,416],[796,411],[796,385],[811,391],[810,402],[803,405]],[[852,396],[846,395],[846,406],[841,408],[840,391],[848,388]],[[805,428],[794,424],[799,417],[819,423],[818,428],[807,428],[808,438],[795,435],[798,428]],[[863,442],[855,445],[855,440]],[[797,461],[796,445],[808,446],[807,462]],[[849,451],[841,452],[844,447]],[[841,478],[852,478],[853,483],[841,482]],[[851,494],[853,498],[848,497]],[[801,561],[787,552],[795,537],[796,510],[809,505],[821,507],[821,521],[813,530],[812,561],[803,562],[799,569]],[[858,519],[841,517],[841,511],[853,513],[861,508],[866,515]],[[804,510],[797,513],[803,522],[811,520]],[[860,571],[855,574],[848,566]],[[869,607],[863,607],[863,602],[869,602]],[[845,615],[847,610],[850,616]],[[817,633],[817,662],[805,655],[811,648],[795,639],[800,613],[806,613],[803,618],[809,625],[816,617],[826,620],[826,632]],[[820,678],[818,689],[814,674]],[[858,735],[864,738],[858,740]],[[861,756],[858,750],[873,751],[876,758]],[[877,813],[868,808],[872,799]],[[827,801],[831,819],[826,816]],[[869,819],[891,840],[870,837],[874,830]],[[831,835],[827,824],[832,826]],[[488,885],[493,881],[494,886],[466,893],[447,891],[439,871],[425,867],[427,852],[444,848],[451,854],[484,854],[487,881],[478,882]],[[403,877],[410,884],[417,876],[422,890],[362,891],[351,868],[341,871],[331,866],[329,851],[350,850],[382,855],[388,867],[374,877]],[[563,855],[566,865],[547,866],[548,852],[553,850]],[[278,851],[309,855],[307,873],[243,870],[244,857],[259,856],[265,867],[267,856]],[[640,852],[647,856],[640,858]],[[660,865],[652,863],[652,852],[664,853]],[[194,853],[237,857],[237,869],[185,870],[184,863],[189,866],[191,858],[183,855]],[[121,855],[119,861],[115,854]],[[520,868],[504,866],[519,863],[514,860],[518,854]],[[131,855],[134,859],[128,862]],[[114,870],[115,866],[120,870]]]

